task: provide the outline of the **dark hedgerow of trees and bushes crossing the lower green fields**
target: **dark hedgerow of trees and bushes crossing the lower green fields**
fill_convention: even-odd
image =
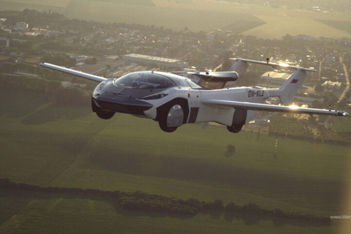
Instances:
[[[152,211],[166,214],[196,215],[200,212],[211,213],[219,212],[226,215],[250,215],[262,219],[286,219],[292,221],[308,222],[312,225],[330,225],[329,217],[317,217],[314,215],[300,214],[297,212],[286,212],[281,209],[267,210],[257,204],[247,203],[242,206],[234,202],[223,205],[223,201],[200,201],[197,198],[186,200],[176,197],[163,195],[153,195],[142,191],[122,192],[122,191],[103,191],[98,189],[65,188],[65,187],[43,187],[26,183],[15,183],[8,178],[0,178],[0,188],[14,189],[20,191],[31,191],[39,193],[64,193],[79,195],[101,195],[108,196],[117,201],[122,209],[136,211]]]

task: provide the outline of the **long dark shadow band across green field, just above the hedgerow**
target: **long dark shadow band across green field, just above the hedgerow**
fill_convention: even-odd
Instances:
[[[220,182],[256,191],[286,195],[287,197],[338,199],[342,195],[343,188],[342,181],[313,179],[277,174],[274,171],[218,165],[185,157],[92,152],[87,160],[104,170],[118,173]]]

